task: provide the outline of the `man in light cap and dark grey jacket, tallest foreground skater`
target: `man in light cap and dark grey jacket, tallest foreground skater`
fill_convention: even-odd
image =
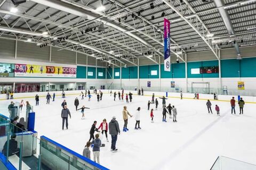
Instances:
[[[112,117],[112,120],[108,124],[109,134],[111,135],[111,151],[115,152],[116,149],[116,141],[117,135],[120,134],[119,124],[116,121],[116,116]]]

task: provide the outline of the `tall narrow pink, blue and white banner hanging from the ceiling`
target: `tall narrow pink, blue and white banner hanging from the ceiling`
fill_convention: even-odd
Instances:
[[[164,71],[171,71],[170,21],[164,19]]]

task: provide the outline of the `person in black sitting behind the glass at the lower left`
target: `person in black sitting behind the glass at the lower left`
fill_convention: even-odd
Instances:
[[[11,135],[11,139],[9,140],[9,156],[18,154],[20,151],[20,148],[18,148],[18,142],[15,140],[16,139],[16,134]],[[2,150],[2,153],[4,156],[7,156],[7,142],[4,143],[4,147]]]

